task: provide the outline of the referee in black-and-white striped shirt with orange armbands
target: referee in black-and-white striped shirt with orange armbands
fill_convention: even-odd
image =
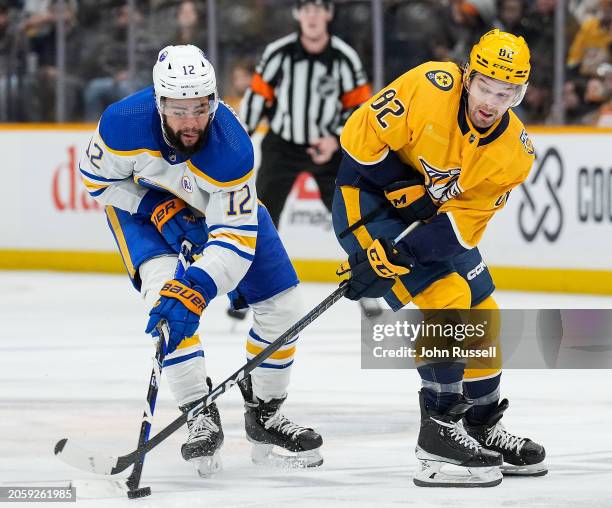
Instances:
[[[371,95],[355,50],[328,31],[332,2],[298,0],[293,16],[299,32],[266,47],[240,111],[249,134],[268,118],[257,195],[277,228],[303,171],[312,174],[331,211],[342,158],[338,138],[353,110]]]

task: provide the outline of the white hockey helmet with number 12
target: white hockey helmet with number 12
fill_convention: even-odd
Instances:
[[[219,105],[215,69],[204,52],[191,44],[166,46],[153,66],[153,88],[157,110],[162,113],[162,98],[194,99],[208,97],[210,120]]]

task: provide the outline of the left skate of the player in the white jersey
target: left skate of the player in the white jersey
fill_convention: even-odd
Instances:
[[[201,477],[207,478],[222,469],[219,450],[223,445],[223,429],[217,405],[213,402],[205,408],[194,410],[199,402],[196,400],[180,407],[184,413],[190,413],[187,420],[189,437],[181,446],[181,454],[195,465]]]

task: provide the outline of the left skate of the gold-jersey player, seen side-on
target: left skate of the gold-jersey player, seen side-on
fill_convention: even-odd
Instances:
[[[419,487],[493,487],[502,481],[502,456],[483,448],[470,437],[461,419],[472,403],[465,397],[445,413],[425,407],[419,392],[421,430],[416,457],[421,470],[414,477]],[[442,466],[445,467],[441,471]]]

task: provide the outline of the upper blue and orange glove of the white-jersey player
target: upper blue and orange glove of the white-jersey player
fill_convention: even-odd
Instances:
[[[204,219],[197,218],[179,198],[170,198],[157,205],[151,222],[176,253],[180,252],[183,240],[189,240],[192,252],[198,253],[208,239]]]

